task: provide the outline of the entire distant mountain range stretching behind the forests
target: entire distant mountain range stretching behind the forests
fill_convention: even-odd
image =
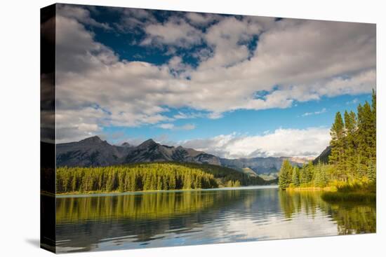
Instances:
[[[148,139],[138,146],[132,146],[128,143],[115,146],[95,136],[77,142],[56,145],[56,165],[69,167],[175,161],[220,165],[237,169],[250,176],[257,174],[266,174],[267,176],[273,174],[274,176],[279,171],[283,160],[286,159],[298,166],[310,161],[306,158],[291,157],[226,159],[192,148],[165,146],[152,139]]]

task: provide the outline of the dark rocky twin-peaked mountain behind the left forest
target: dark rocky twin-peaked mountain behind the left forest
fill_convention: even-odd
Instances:
[[[78,142],[56,145],[58,166],[107,166],[136,162],[194,162],[220,165],[220,159],[192,148],[164,146],[152,139],[139,146],[124,143],[114,146],[99,137],[90,137]]]

